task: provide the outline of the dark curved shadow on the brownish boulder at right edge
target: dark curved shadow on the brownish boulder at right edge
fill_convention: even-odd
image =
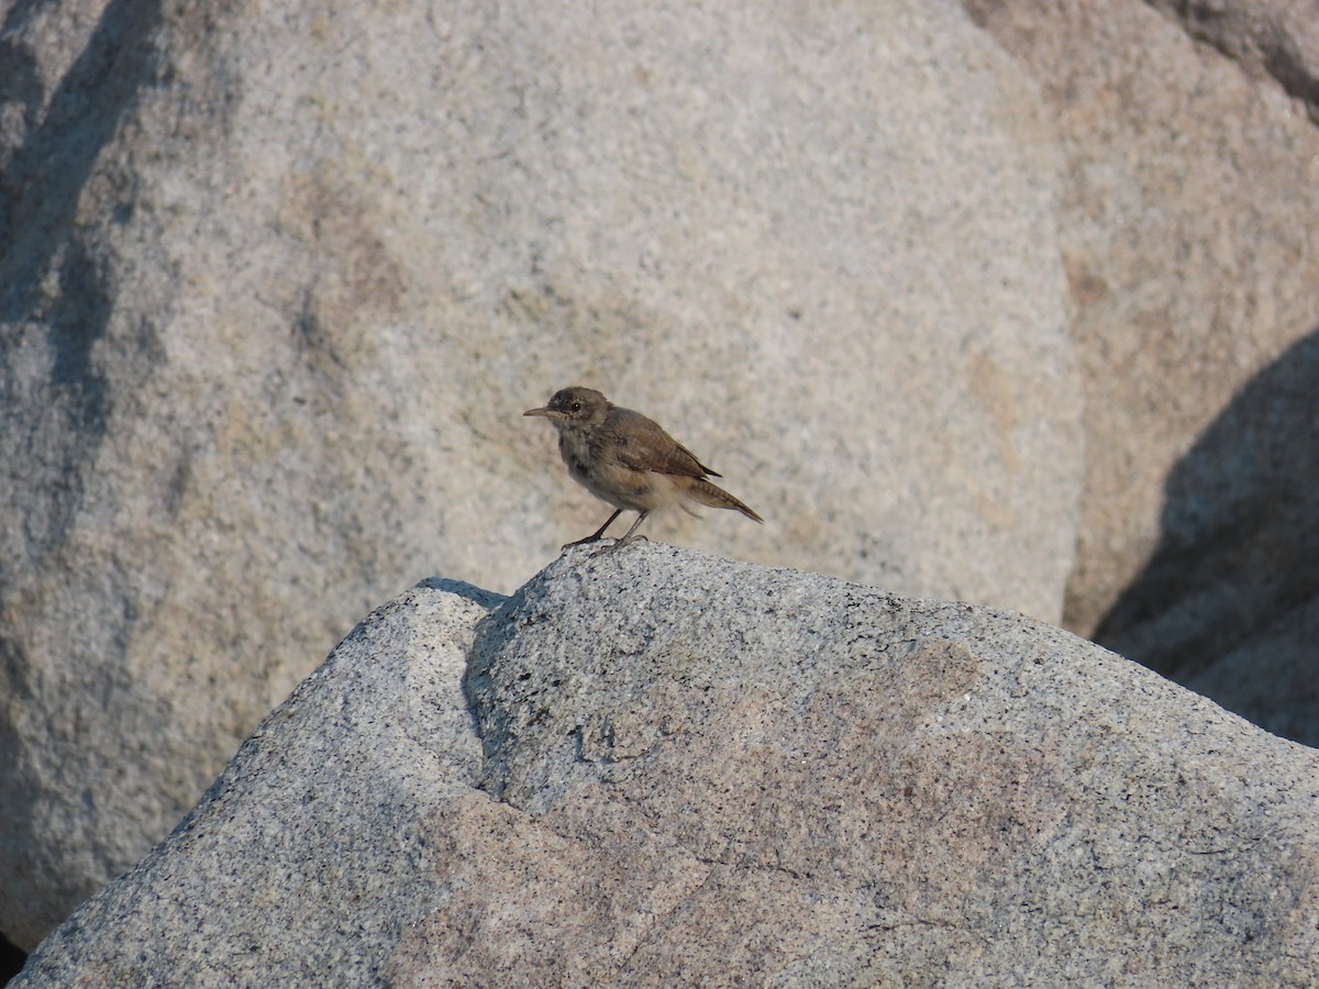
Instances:
[[[1319,331],[1232,400],[1166,485],[1162,538],[1095,641],[1319,745]]]

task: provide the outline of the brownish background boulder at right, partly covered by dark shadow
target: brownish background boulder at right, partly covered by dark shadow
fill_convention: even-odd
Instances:
[[[964,7],[1038,82],[1064,161],[1086,390],[1066,624],[1319,744],[1319,638],[1295,636],[1319,600],[1315,4]],[[1237,692],[1264,642],[1286,675]]]

